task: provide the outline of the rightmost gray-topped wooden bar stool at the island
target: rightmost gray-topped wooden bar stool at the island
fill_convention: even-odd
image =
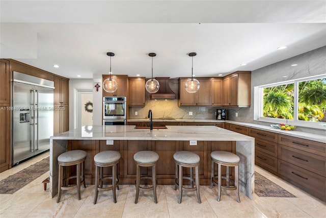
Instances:
[[[239,165],[239,161],[240,158],[231,153],[231,152],[226,152],[226,151],[213,151],[212,153],[210,153],[210,158],[211,158],[211,173],[210,173],[210,187],[213,187],[214,185],[218,186],[218,201],[220,201],[221,199],[221,186],[224,187],[225,189],[228,190],[236,190],[235,191],[235,195],[237,198],[237,202],[240,203],[240,198],[239,198],[239,169],[238,169],[238,165]],[[216,179],[216,176],[214,176],[214,163],[218,164],[218,182],[216,183],[216,181],[214,179]],[[226,166],[226,176],[222,176],[221,173],[221,166]],[[234,166],[234,180],[232,180],[230,178],[230,173],[229,173],[229,167]],[[222,185],[222,179],[226,180],[226,185]],[[230,185],[230,181],[234,184],[234,185]]]

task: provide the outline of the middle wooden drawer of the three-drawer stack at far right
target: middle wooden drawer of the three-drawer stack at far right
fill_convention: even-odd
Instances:
[[[297,150],[291,147],[279,146],[279,159],[290,162],[296,166],[307,169],[321,176],[326,177],[326,158],[311,154],[305,151]]]

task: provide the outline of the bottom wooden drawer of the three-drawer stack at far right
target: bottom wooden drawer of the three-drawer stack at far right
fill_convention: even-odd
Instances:
[[[295,166],[283,160],[278,160],[278,173],[290,180],[311,195],[326,200],[326,178]]]

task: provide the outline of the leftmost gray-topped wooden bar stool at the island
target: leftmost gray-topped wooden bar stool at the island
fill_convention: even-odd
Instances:
[[[57,203],[60,202],[62,190],[69,190],[73,188],[77,188],[77,197],[80,200],[80,184],[85,185],[85,160],[87,153],[82,150],[73,150],[69,152],[65,152],[58,157],[59,164],[59,185],[58,185],[58,199]],[[76,176],[68,176],[67,178],[63,178],[63,167],[64,166],[73,166],[76,165]],[[69,180],[76,178],[75,185],[69,185]],[[65,181],[65,186],[63,186],[63,181]]]

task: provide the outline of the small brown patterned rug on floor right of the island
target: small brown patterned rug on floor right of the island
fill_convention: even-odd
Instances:
[[[259,197],[295,197],[290,192],[255,172],[255,193]]]

